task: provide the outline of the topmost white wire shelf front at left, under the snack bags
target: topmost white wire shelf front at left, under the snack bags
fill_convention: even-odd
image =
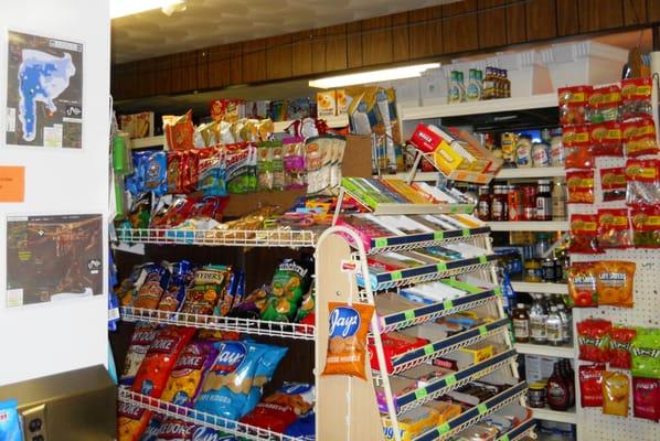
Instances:
[[[234,247],[313,247],[316,234],[292,229],[118,229],[119,241],[128,244],[198,245]]]

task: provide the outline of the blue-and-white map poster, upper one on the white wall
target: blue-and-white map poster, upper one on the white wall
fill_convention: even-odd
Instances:
[[[83,147],[83,45],[9,31],[7,143]]]

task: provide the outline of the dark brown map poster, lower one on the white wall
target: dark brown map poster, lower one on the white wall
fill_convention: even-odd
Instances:
[[[103,217],[8,217],[7,305],[103,294]]]

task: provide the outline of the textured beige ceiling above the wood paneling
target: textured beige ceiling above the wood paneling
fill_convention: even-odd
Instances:
[[[188,0],[188,9],[171,17],[151,10],[113,20],[113,62],[281,35],[455,1]]]

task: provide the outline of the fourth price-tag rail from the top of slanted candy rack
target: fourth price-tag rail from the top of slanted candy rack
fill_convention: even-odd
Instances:
[[[503,318],[447,338],[414,348],[392,358],[392,374],[398,374],[423,363],[430,362],[445,354],[479,343],[509,330],[509,318]]]

